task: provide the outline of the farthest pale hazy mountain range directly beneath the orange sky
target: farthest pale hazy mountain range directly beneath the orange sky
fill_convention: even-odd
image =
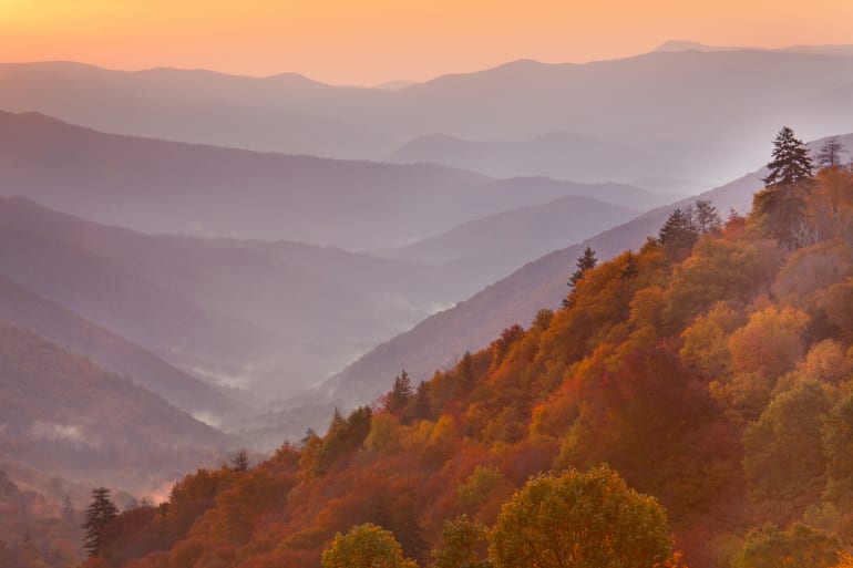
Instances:
[[[844,47],[682,45],[587,64],[516,61],[398,90],[338,87],[294,74],[127,73],[54,62],[2,65],[0,109],[114,133],[373,159],[435,133],[517,143],[572,132],[657,156],[655,176],[721,182],[760,159],[759,133],[780,124],[809,137],[853,130],[853,118],[810,104],[852,81]],[[812,106],[816,116],[802,110]]]

